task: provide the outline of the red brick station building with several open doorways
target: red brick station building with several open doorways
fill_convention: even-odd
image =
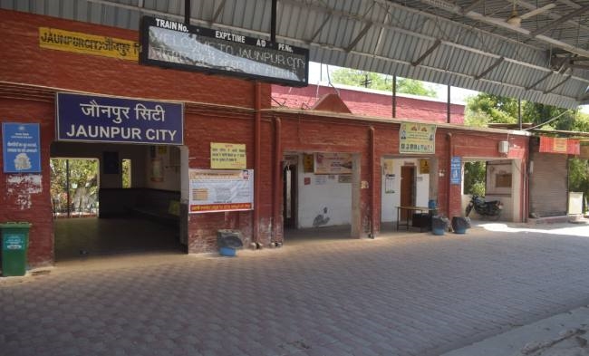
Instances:
[[[413,194],[413,204],[423,204],[424,199],[426,202],[435,199],[439,212],[447,216],[461,215],[462,211],[461,186],[450,184],[449,180],[452,157],[460,157],[463,162],[467,159],[508,160],[511,162],[509,165],[515,167],[513,175],[517,176],[513,180],[517,187],[511,194],[514,211],[509,219],[521,221],[526,216],[526,197],[523,192],[526,184],[527,136],[508,130],[470,130],[455,124],[440,123],[435,127],[435,138],[431,137],[431,140],[435,139],[434,153],[400,153],[401,124],[431,117],[435,117],[436,122],[443,122],[445,120],[441,120],[441,117],[445,118],[445,113],[442,115],[439,105],[445,104],[434,105],[400,98],[397,116],[401,118],[407,115],[410,120],[378,119],[373,116],[381,116],[380,112],[382,117],[389,116],[385,112],[390,111],[390,107],[384,101],[390,100],[390,97],[379,99],[381,104],[367,105],[364,94],[345,91],[341,94],[342,99],[352,114],[272,108],[275,105],[272,98],[286,98],[287,92],[291,91],[289,88],[227,76],[141,66],[134,61],[48,49],[40,45],[42,28],[130,41],[138,40],[136,32],[4,10],[0,11],[0,19],[0,31],[4,34],[4,40],[0,43],[3,53],[0,60],[0,120],[38,123],[41,129],[41,173],[0,173],[0,222],[33,223],[29,248],[31,265],[50,265],[54,261],[50,158],[59,155],[100,159],[105,147],[109,150],[121,149],[121,157],[127,152],[138,150],[133,145],[120,147],[80,143],[68,146],[63,142],[55,142],[56,92],[183,102],[184,144],[180,151],[185,156],[181,156],[180,169],[174,171],[171,165],[165,167],[169,169],[166,174],[175,175],[182,182],[182,187],[178,183],[171,189],[177,194],[182,189],[188,189],[188,184],[184,183],[186,177],[179,177],[185,176],[188,169],[210,169],[212,142],[246,145],[246,168],[255,171],[254,209],[181,214],[179,224],[184,225],[182,231],[188,253],[215,250],[219,229],[240,230],[246,245],[250,242],[268,245],[271,241],[282,241],[283,211],[287,209],[284,204],[285,172],[291,163],[294,163],[293,167],[299,166],[297,172],[300,181],[297,183],[293,180],[298,188],[294,192],[299,194],[299,203],[304,200],[304,194],[313,196],[316,192],[328,189],[338,192],[338,189],[345,187],[342,192],[346,196],[345,205],[349,207],[339,212],[344,216],[340,223],[351,226],[352,237],[378,235],[381,221],[387,221],[381,213],[383,197],[390,198],[391,202],[398,201],[399,197],[393,196],[402,189],[394,188],[398,187],[400,176],[391,183],[395,185],[391,186],[391,191],[397,193],[386,193],[391,194],[386,196],[383,190],[389,184],[384,179],[392,180],[389,176],[394,176],[383,175],[383,162],[386,159],[391,159],[399,169],[412,167],[414,170],[414,181],[418,187],[422,184],[423,188],[418,188],[419,191]],[[316,88],[309,87],[303,91],[314,90]],[[420,105],[432,105],[426,118],[420,117],[423,112]],[[462,120],[459,106],[453,106],[452,111],[455,110],[457,112],[452,114],[452,118],[456,121],[453,122],[459,123]],[[371,114],[361,116],[367,112]],[[510,149],[508,153],[501,153],[497,150],[498,142],[506,140]],[[141,152],[138,157],[149,157],[149,148],[139,145],[139,149]],[[345,175],[316,175],[305,171],[302,160],[304,155],[316,159],[317,153],[347,155],[351,158],[351,171]],[[422,161],[427,161],[430,168],[421,174],[417,168]],[[147,167],[149,162],[141,164]],[[126,196],[123,195],[127,193],[122,193],[121,187],[117,186],[120,180],[118,176],[101,174],[104,184],[101,191],[109,195],[111,190],[111,197],[114,197],[111,203],[104,200],[101,208],[108,209],[109,204],[111,207],[122,204],[116,201],[117,197],[124,200]],[[140,194],[149,190],[166,190],[158,187],[146,183],[138,188],[142,189]],[[305,189],[308,189],[307,193]],[[338,194],[330,194],[325,197],[330,199],[332,207],[327,210],[326,206],[321,206],[323,211],[332,212],[332,209],[341,205],[331,200]],[[308,202],[314,204],[313,198]],[[181,204],[186,205],[187,202],[182,200]],[[296,209],[303,221],[306,218],[305,208],[299,205]],[[313,214],[316,215],[316,211]],[[323,222],[326,220],[324,218]],[[336,216],[332,216],[332,222],[335,221]],[[305,224],[299,222],[295,226],[305,227]]]

